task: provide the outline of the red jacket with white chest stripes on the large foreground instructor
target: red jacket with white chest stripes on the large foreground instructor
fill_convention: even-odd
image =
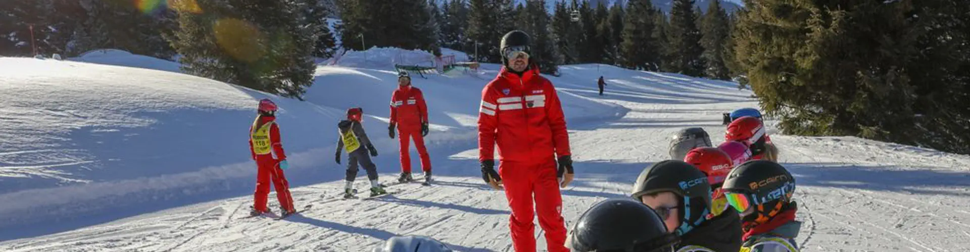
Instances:
[[[555,158],[554,153],[569,155],[566,116],[556,88],[531,69],[520,78],[502,68],[482,89],[479,161],[495,159],[496,144],[501,161],[545,162]]]

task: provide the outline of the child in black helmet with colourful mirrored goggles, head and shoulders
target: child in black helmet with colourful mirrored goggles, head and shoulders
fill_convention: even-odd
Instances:
[[[794,220],[792,173],[775,162],[751,161],[731,170],[722,189],[727,203],[741,213],[743,251],[798,251],[794,237],[801,222]]]

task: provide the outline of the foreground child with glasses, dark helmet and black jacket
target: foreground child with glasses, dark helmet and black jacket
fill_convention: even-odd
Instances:
[[[681,237],[678,251],[737,252],[740,222],[735,214],[711,216],[709,179],[691,164],[666,160],[640,173],[630,197],[657,210],[667,230]]]

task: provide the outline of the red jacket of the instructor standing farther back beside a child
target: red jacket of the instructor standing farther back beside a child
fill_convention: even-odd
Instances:
[[[406,85],[398,87],[391,94],[391,123],[398,128],[420,126],[428,121],[428,106],[425,105],[421,89]]]

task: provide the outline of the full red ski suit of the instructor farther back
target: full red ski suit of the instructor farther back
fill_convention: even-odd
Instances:
[[[431,158],[428,148],[421,137],[421,124],[428,122],[428,106],[425,105],[421,89],[410,84],[398,86],[391,94],[391,124],[398,125],[398,140],[401,142],[401,172],[411,172],[411,153],[408,143],[414,139],[414,147],[421,157],[421,170],[431,172]]]

